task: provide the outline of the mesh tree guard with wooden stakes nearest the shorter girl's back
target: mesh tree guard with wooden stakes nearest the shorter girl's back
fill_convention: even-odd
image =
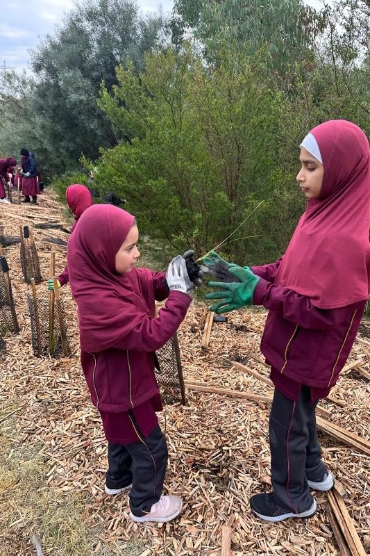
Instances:
[[[51,252],[51,275],[54,274],[54,267],[55,253]],[[28,309],[33,354],[35,357],[50,356],[54,359],[69,357],[71,350],[57,279],[54,278],[54,290],[48,291],[48,297],[37,297],[34,279],[31,279],[31,291],[32,295],[28,295]]]

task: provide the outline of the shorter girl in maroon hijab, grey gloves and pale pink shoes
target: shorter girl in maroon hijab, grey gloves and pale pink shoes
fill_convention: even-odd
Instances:
[[[182,508],[162,496],[167,444],[155,411],[162,402],[155,350],[174,335],[193,284],[178,256],[167,274],[135,268],[139,231],[133,215],[112,205],[87,208],[68,243],[81,364],[108,440],[106,493],[130,490],[133,521],[169,521]],[[168,297],[155,316],[155,300]]]

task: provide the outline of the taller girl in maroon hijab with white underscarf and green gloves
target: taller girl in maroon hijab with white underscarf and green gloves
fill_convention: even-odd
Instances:
[[[212,310],[269,309],[261,350],[275,386],[269,418],[274,491],[251,498],[253,512],[266,521],[312,516],[317,506],[310,489],[333,486],[320,456],[315,408],[337,382],[369,297],[367,137],[351,122],[331,120],[308,133],[299,158],[296,179],[308,204],[281,259],[251,268],[217,254],[208,260],[218,277],[222,268],[237,280],[210,282],[222,290],[206,294],[221,299]]]

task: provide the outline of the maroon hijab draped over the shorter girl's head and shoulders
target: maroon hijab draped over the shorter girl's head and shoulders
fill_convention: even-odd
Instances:
[[[124,275],[115,255],[135,217],[110,204],[87,208],[68,242],[69,284],[77,304],[81,350],[114,346],[143,318],[155,316],[153,283],[146,269]]]

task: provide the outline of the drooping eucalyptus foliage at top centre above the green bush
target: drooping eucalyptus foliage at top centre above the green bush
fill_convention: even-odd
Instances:
[[[267,65],[283,70],[312,44],[315,19],[301,0],[175,0],[172,29],[175,42],[192,31],[207,58],[221,45],[249,54],[264,47]]]

